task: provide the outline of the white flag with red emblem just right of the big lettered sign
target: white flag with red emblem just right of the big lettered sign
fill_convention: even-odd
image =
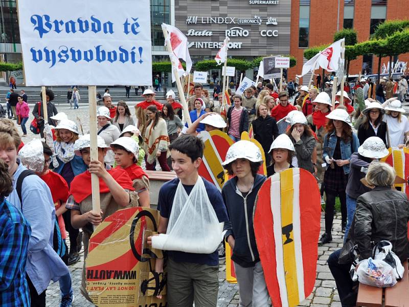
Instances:
[[[177,69],[179,77],[182,75],[189,75],[190,70],[192,69],[192,59],[190,58],[189,49],[188,49],[188,38],[180,32],[179,29],[162,24],[162,29],[168,31],[168,37],[166,38],[165,44],[170,41],[172,46],[172,52],[169,53],[170,60],[172,62],[172,67]],[[186,71],[184,70],[179,59],[182,59],[186,62]],[[172,82],[176,81],[176,77],[173,74],[172,70]]]

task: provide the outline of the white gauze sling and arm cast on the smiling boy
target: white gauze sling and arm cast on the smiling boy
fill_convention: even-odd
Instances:
[[[199,176],[188,195],[179,182],[166,234],[152,237],[152,247],[188,253],[213,253],[223,239],[223,225]]]

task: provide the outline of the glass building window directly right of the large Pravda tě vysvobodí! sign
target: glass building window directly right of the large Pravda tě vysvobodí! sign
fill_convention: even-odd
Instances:
[[[151,38],[152,46],[164,46],[162,23],[170,24],[170,0],[151,0]]]

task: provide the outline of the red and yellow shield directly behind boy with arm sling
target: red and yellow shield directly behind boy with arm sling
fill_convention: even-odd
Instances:
[[[226,159],[233,140],[220,130],[201,131],[198,137],[205,143],[203,162],[199,166],[199,175],[213,182],[221,190],[226,182],[226,173],[221,163]]]

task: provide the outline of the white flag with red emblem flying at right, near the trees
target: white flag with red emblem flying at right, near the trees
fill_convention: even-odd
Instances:
[[[345,40],[345,38],[335,41],[332,45],[328,46],[326,49],[309,59],[303,65],[303,71],[299,77],[302,77],[309,72],[313,72],[320,67],[329,72],[339,71],[340,65],[342,64],[341,53],[343,50],[341,48],[341,42],[343,40]]]

